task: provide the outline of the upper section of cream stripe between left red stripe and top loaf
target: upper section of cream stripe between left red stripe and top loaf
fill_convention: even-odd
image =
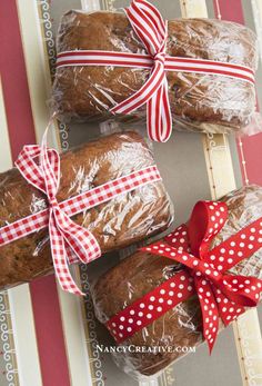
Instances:
[[[48,1],[46,2],[48,6]],[[51,96],[51,77],[47,58],[47,41],[44,41],[42,36],[42,21],[39,19],[38,1],[17,0],[17,6],[34,130],[39,143],[50,119],[48,100]],[[50,131],[52,132],[52,136],[50,136],[49,145],[58,147],[58,132],[56,129]]]

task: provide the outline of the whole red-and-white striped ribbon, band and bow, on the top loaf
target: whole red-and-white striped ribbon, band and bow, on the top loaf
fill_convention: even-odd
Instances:
[[[220,75],[254,85],[254,71],[245,66],[167,56],[168,21],[148,1],[133,0],[125,13],[147,55],[99,50],[63,51],[58,55],[57,67],[115,66],[151,69],[142,88],[114,106],[111,112],[128,115],[147,103],[148,133],[152,140],[165,142],[172,132],[167,71]]]

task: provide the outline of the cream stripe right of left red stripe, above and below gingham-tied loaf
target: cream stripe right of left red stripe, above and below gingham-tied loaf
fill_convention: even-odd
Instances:
[[[19,6],[20,23],[22,27],[23,48],[32,103],[33,119],[38,141],[49,120],[49,111],[46,101],[51,91],[51,76],[48,65],[48,49],[44,38],[44,23],[41,4],[37,1],[17,0]],[[44,1],[46,10],[49,8]],[[47,17],[48,12],[46,12]],[[30,20],[30,23],[28,22]],[[49,37],[49,42],[52,37]],[[53,42],[53,41],[51,41]],[[53,136],[53,146],[60,149],[58,130]],[[85,386],[92,383],[88,352],[84,336],[83,319],[81,317],[81,304],[78,297],[70,296],[60,290],[58,285],[59,303],[63,326],[64,343],[72,386]],[[77,353],[77,354],[75,354]]]

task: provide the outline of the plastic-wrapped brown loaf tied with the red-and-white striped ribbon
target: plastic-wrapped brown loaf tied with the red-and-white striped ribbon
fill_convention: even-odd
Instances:
[[[147,53],[123,13],[74,10],[62,18],[57,50]],[[169,21],[167,53],[243,65],[253,70],[258,62],[255,34],[250,29],[209,19]],[[109,109],[139,90],[148,76],[147,69],[113,66],[58,68],[53,110],[63,121],[109,118]],[[205,122],[223,127],[210,126],[204,130],[239,130],[249,123],[255,108],[254,87],[243,80],[168,71],[168,82],[174,122],[189,123],[183,129],[203,130],[200,123]],[[145,107],[134,115],[145,117]]]

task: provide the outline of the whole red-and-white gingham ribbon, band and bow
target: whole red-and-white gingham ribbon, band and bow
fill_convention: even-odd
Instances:
[[[16,166],[30,185],[47,196],[49,208],[0,228],[0,247],[49,227],[54,271],[62,289],[83,295],[72,279],[68,263],[80,260],[88,264],[100,257],[101,250],[93,235],[70,217],[121,194],[159,181],[161,177],[153,165],[58,202],[60,157],[54,149],[47,147],[47,132],[41,147],[23,147]],[[36,158],[39,158],[39,164]]]

